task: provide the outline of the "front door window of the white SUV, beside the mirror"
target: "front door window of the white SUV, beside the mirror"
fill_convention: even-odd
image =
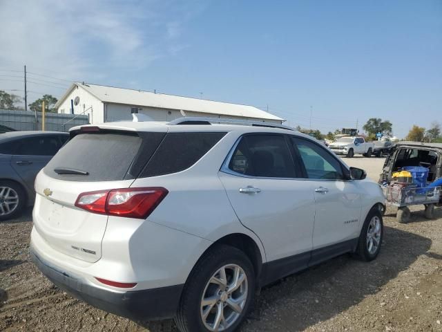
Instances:
[[[298,147],[308,178],[327,180],[344,178],[340,163],[325,148],[301,138],[292,137],[291,140]]]

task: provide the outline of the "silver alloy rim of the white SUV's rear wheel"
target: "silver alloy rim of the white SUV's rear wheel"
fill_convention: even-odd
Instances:
[[[201,318],[209,331],[225,331],[240,317],[248,295],[247,275],[236,264],[218,269],[204,288]]]

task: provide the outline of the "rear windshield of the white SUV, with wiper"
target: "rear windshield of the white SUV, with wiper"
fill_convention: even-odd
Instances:
[[[123,180],[141,143],[131,133],[81,133],[58,151],[44,172],[67,181]],[[75,169],[88,175],[57,174],[54,169]]]

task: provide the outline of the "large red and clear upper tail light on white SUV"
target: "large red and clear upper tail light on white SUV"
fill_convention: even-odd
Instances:
[[[146,219],[169,192],[163,187],[99,190],[79,194],[75,206],[86,211]]]

